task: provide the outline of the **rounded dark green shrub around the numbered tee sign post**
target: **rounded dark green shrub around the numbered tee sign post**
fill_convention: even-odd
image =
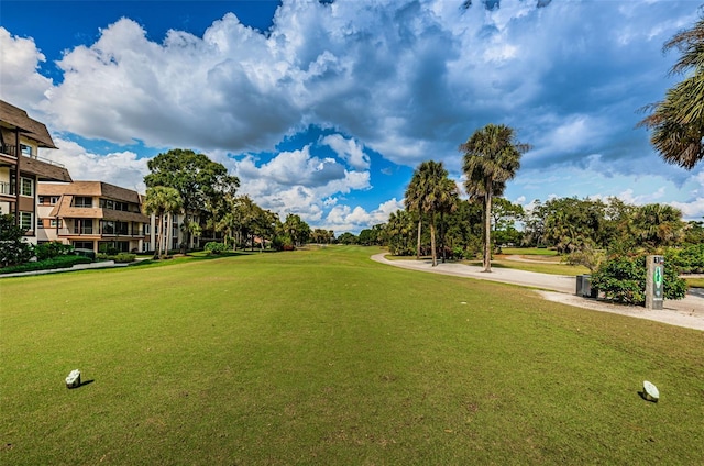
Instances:
[[[627,304],[646,302],[646,255],[617,256],[606,260],[592,275],[592,287],[607,299]],[[686,293],[686,281],[679,278],[679,270],[666,260],[662,291],[666,299],[682,299]]]

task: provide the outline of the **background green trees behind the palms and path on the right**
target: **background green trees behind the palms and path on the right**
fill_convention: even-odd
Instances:
[[[455,209],[444,215],[438,228],[444,232],[451,256],[474,257],[483,245],[482,203],[458,199]],[[671,206],[634,206],[617,198],[535,200],[526,211],[521,206],[496,198],[491,220],[497,246],[551,247],[561,254],[581,255],[579,263],[593,266],[598,265],[593,262],[593,254],[598,251],[660,254],[671,246],[698,244],[704,240],[704,222],[684,222],[682,212]],[[392,254],[417,253],[418,222],[413,213],[406,210],[392,213],[381,232],[382,243]],[[430,243],[429,233],[421,233],[421,254],[430,255]]]

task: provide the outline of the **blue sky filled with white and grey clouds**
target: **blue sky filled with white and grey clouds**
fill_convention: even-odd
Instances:
[[[704,165],[662,162],[639,109],[680,78],[662,44],[698,1],[13,1],[0,98],[50,127],[74,179],[144,190],[193,148],[240,192],[358,233],[403,207],[413,169],[487,123],[525,154],[505,197],[669,203],[704,217]]]

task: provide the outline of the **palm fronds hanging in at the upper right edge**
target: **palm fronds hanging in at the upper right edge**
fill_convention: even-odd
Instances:
[[[704,158],[704,19],[675,34],[663,49],[673,47],[682,55],[670,73],[693,73],[670,88],[664,100],[647,106],[644,110],[651,113],[638,125],[652,131],[650,143],[666,162],[692,169]]]

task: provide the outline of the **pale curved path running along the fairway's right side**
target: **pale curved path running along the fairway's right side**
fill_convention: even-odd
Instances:
[[[689,293],[686,298],[682,300],[668,300],[664,302],[664,309],[662,310],[648,310],[638,306],[616,304],[605,300],[576,296],[576,278],[573,276],[539,274],[510,268],[494,268],[492,273],[485,273],[482,270],[482,267],[458,263],[438,263],[438,265],[433,267],[430,260],[389,260],[385,256],[386,253],[381,253],[372,256],[372,259],[377,263],[409,270],[453,275],[457,277],[469,277],[537,288],[538,290],[536,292],[550,301],[704,331],[704,297],[702,297],[701,293]]]

